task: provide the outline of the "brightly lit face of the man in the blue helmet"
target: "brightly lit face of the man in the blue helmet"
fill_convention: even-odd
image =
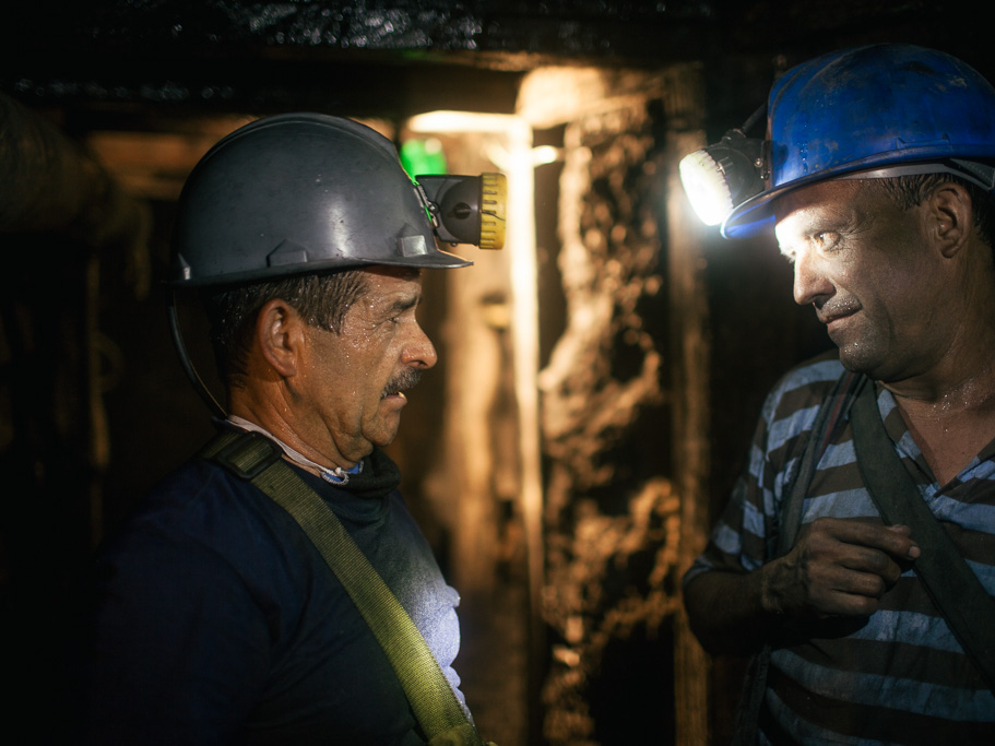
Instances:
[[[866,182],[803,187],[777,204],[794,298],[812,304],[851,370],[897,381],[923,372],[950,339],[927,209],[902,211]]]

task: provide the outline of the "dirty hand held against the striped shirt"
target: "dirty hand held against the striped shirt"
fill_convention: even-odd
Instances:
[[[901,576],[899,563],[919,555],[908,526],[819,518],[760,570],[760,602],[770,613],[804,618],[868,616]]]

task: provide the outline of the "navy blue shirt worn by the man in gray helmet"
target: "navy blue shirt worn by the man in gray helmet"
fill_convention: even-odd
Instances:
[[[296,467],[295,467],[296,469]],[[395,489],[333,508],[459,692],[455,591]],[[423,744],[386,655],[294,519],[196,459],[99,556],[85,625],[94,744]]]

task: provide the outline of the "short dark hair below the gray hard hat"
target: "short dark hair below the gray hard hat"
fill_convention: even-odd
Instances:
[[[211,344],[222,379],[230,389],[242,383],[256,317],[281,298],[308,324],[339,334],[350,307],[366,293],[360,269],[296,275],[225,287],[204,297]]]

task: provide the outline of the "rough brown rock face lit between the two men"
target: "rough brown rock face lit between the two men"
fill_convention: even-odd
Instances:
[[[666,260],[653,203],[662,114],[637,100],[583,116],[565,133],[567,322],[540,379],[553,638],[544,735],[553,744],[624,743],[653,700],[660,735],[673,738],[663,623],[677,604],[680,520],[666,476]]]

